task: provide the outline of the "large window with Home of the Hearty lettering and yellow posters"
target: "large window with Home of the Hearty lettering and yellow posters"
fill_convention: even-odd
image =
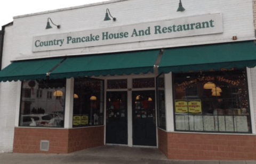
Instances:
[[[177,131],[251,133],[245,70],[176,73]]]

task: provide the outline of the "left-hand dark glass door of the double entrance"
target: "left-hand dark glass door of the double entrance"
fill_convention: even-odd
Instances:
[[[107,92],[106,143],[128,144],[127,91]]]

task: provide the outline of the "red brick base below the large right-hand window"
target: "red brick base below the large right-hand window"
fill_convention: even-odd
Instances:
[[[158,129],[158,140],[159,150],[168,159],[256,160],[255,135],[170,133]]]

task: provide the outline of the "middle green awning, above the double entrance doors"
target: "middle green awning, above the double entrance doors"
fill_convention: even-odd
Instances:
[[[68,57],[50,74],[50,79],[154,72],[158,50]]]

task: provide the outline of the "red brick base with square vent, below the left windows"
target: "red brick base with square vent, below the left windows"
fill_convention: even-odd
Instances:
[[[41,140],[49,141],[49,151],[40,151]],[[14,153],[70,153],[104,145],[104,126],[76,129],[14,129]]]

